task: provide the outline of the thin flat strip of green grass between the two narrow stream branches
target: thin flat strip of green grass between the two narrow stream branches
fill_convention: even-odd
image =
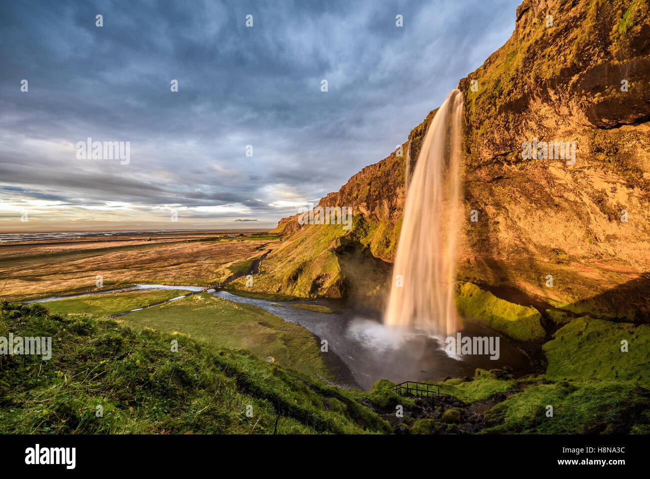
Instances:
[[[47,301],[44,305],[54,314],[109,316],[110,314],[141,308],[187,293],[187,291],[181,290],[116,292]]]

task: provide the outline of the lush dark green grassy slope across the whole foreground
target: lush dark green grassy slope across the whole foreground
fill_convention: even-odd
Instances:
[[[390,381],[339,389],[216,346],[227,335],[208,343],[0,303],[0,336],[10,331],[51,336],[53,354],[0,356],[0,433],[272,433],[276,419],[278,433],[650,433],[645,325],[573,320],[545,344],[547,374],[479,369],[444,381],[435,407],[396,396]],[[595,333],[612,346],[606,361],[593,358]],[[629,353],[614,351],[621,338]]]

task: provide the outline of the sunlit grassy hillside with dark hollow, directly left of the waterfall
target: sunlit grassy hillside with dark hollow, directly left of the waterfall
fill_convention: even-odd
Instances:
[[[394,254],[400,225],[361,214],[354,216],[350,230],[307,225],[287,234],[262,260],[252,287],[242,277],[227,288],[272,300],[348,297],[357,305],[381,308],[391,266],[378,256]]]

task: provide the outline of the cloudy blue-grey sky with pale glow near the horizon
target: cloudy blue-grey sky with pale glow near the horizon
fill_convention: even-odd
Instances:
[[[272,228],[406,141],[519,3],[3,2],[0,232]]]

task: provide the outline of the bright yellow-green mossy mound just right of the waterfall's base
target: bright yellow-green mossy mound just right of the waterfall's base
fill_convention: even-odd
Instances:
[[[472,318],[519,341],[536,341],[545,336],[541,314],[499,299],[469,282],[457,283],[456,307],[466,318]]]

